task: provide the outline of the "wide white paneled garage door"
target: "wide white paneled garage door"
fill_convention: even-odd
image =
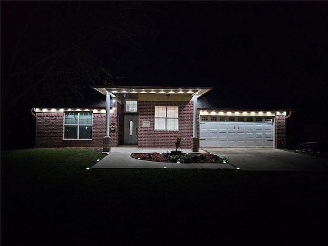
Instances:
[[[273,148],[272,119],[200,121],[200,147]]]

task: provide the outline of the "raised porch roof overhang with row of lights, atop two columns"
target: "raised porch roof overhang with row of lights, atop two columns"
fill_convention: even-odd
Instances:
[[[91,86],[101,94],[140,93],[140,94],[197,94],[198,97],[212,90],[213,87],[164,87],[164,86]]]

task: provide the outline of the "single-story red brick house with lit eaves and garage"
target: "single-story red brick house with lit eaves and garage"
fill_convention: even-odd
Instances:
[[[202,103],[213,87],[92,86],[98,105],[35,108],[36,148],[283,148],[288,111],[218,108]],[[100,95],[100,94],[99,94]],[[106,99],[105,99],[106,98]],[[199,98],[199,99],[198,99]]]

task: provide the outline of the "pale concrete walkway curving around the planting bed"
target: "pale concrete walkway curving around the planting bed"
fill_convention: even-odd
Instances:
[[[91,168],[191,168],[191,169],[235,169],[229,163],[172,163],[172,162],[155,162],[148,160],[138,160],[132,158],[131,153],[165,153],[175,149],[168,148],[154,148],[145,149],[137,148],[137,146],[120,146],[112,147],[109,154],[98,161],[96,165]],[[182,152],[192,153],[191,149],[182,149]],[[206,153],[199,149],[197,153]]]

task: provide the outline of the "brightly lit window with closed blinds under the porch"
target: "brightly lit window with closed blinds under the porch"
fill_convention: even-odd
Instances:
[[[179,107],[155,106],[155,130],[178,130]]]

